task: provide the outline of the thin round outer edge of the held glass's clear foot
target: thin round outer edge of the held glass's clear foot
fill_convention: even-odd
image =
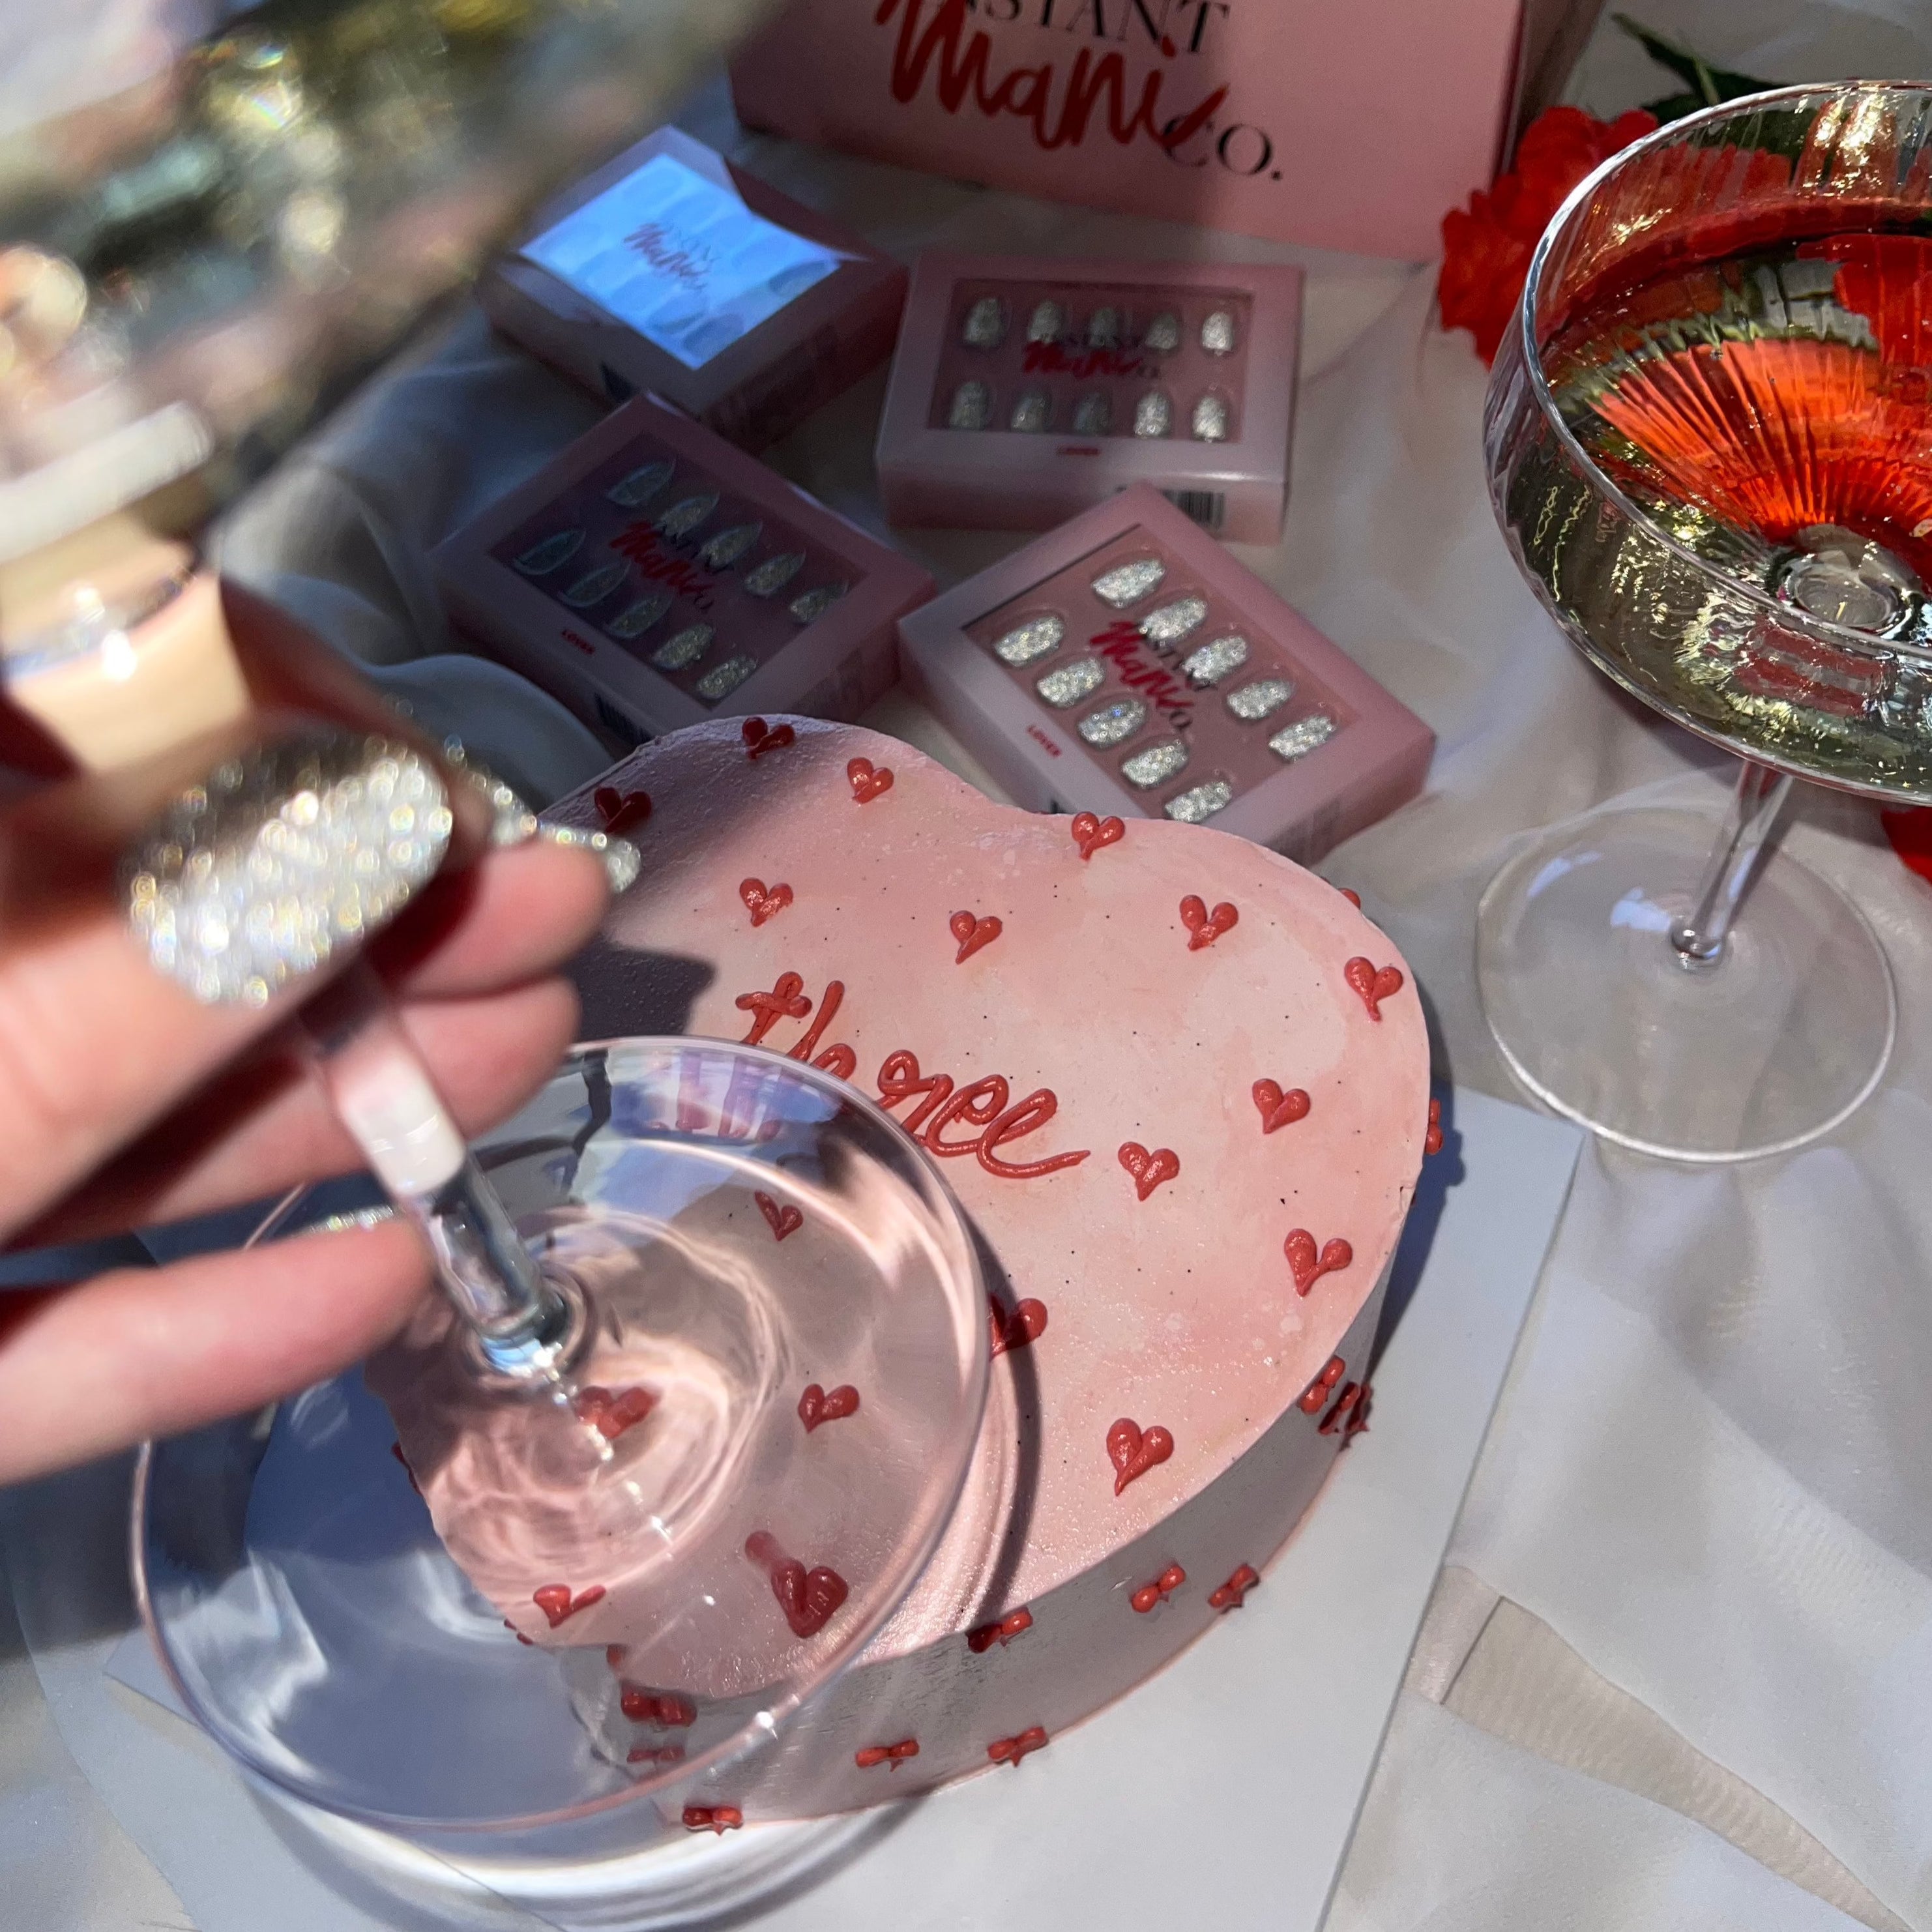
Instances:
[[[611,1039],[580,1039],[551,1072],[551,1080],[558,1074],[568,1072],[582,1061],[593,1055],[609,1055],[618,1049],[651,1049],[661,1047],[667,1051],[686,1053],[686,1051],[715,1051],[730,1053],[734,1057],[744,1057],[750,1061],[763,1063],[773,1070],[782,1070],[786,1074],[796,1074],[806,1086],[821,1088],[829,1097],[837,1099],[842,1107],[854,1107],[875,1126],[887,1130],[887,1138],[896,1140],[900,1148],[914,1155],[914,1167],[923,1171],[927,1184],[931,1186],[935,1200],[943,1211],[943,1225],[951,1238],[958,1244],[960,1254],[966,1262],[964,1279],[968,1283],[970,1308],[964,1310],[964,1333],[970,1337],[968,1343],[968,1412],[972,1416],[972,1426],[962,1432],[964,1439],[954,1457],[954,1466],[947,1472],[943,1484],[943,1507],[933,1513],[931,1528],[916,1538],[912,1549],[904,1559],[904,1575],[900,1577],[898,1588],[881,1598],[875,1609],[858,1619],[842,1642],[837,1662],[810,1687],[792,1687],[782,1696],[773,1698],[765,1712],[773,1718],[773,1727],[790,1718],[800,1704],[817,1696],[829,1685],[858,1662],[866,1646],[879,1634],[879,1631],[891,1621],[893,1613],[904,1604],[906,1594],[920,1580],[925,1565],[931,1563],[941,1540],[952,1524],[954,1511],[958,1509],[960,1492],[966,1488],[966,1474],[972,1468],[974,1453],[980,1445],[980,1426],[985,1416],[985,1397],[991,1381],[991,1350],[985,1325],[985,1306],[987,1306],[987,1285],[983,1271],[980,1267],[980,1248],[972,1235],[972,1223],[966,1219],[966,1211],[960,1208],[958,1200],[952,1196],[945,1175],[939,1173],[937,1163],[925,1153],[925,1150],[898,1124],[877,1101],[869,1099],[856,1086],[835,1078],[819,1066],[811,1066],[804,1061],[794,1061],[782,1053],[773,1053],[769,1047],[752,1047],[736,1039],[709,1039],[701,1036],[686,1034],[624,1034]],[[539,1090],[541,1092],[541,1090]],[[535,1097],[535,1095],[531,1095]],[[514,1117],[512,1117],[514,1119]],[[257,1246],[257,1242],[272,1238],[284,1233],[288,1221],[292,1219],[296,1204],[307,1194],[307,1186],[292,1188],[284,1194],[274,1208],[263,1217],[261,1225],[243,1242],[245,1248]],[[317,1223],[321,1225],[321,1223]],[[288,1401],[284,1397],[282,1401]],[[278,1408],[280,1403],[269,1403],[257,1414],[267,1414]],[[278,1793],[294,1799],[298,1804],[309,1804],[317,1810],[330,1812],[338,1818],[350,1818],[355,1824],[373,1826],[381,1832],[390,1832],[402,1837],[419,1839],[423,1835],[464,1835],[475,1839],[487,1839],[497,1833],[514,1832],[541,1832],[554,1826],[576,1824],[583,1818],[595,1818],[603,1812],[618,1810],[626,1804],[636,1804],[649,1801],[661,1791],[674,1789],[707,1770],[715,1770],[719,1764],[740,1756],[742,1752],[755,1747],[757,1721],[734,1731],[730,1737],[721,1739],[709,1750],[699,1752],[696,1758],[688,1758],[676,1766],[672,1776],[657,1779],[638,1779],[622,1791],[611,1791],[603,1797],[583,1799],[578,1804],[558,1806],[547,1812],[529,1812],[514,1818],[483,1818],[483,1820],[446,1820],[446,1818],[421,1818],[402,1812],[384,1812],[363,1804],[354,1804],[348,1801],[336,1801],[321,1797],[299,1783],[284,1776],[274,1764],[265,1762],[257,1752],[247,1750],[232,1737],[226,1725],[218,1723],[213,1714],[205,1708],[203,1700],[189,1689],[182,1671],[176,1665],[174,1650],[170,1648],[160,1617],[155,1611],[153,1594],[149,1592],[147,1580],[147,1519],[149,1519],[149,1493],[155,1470],[155,1441],[143,1441],[135,1455],[133,1468],[133,1492],[128,1509],[128,1573],[133,1584],[135,1607],[141,1613],[141,1625],[147,1631],[149,1642],[155,1646],[155,1656],[160,1660],[160,1667],[174,1689],[174,1694],[182,1700],[184,1708],[195,1719],[195,1723],[213,1737],[220,1748],[242,1764],[251,1776],[261,1777],[265,1783],[272,1785]],[[771,1735],[769,1731],[765,1735]]]

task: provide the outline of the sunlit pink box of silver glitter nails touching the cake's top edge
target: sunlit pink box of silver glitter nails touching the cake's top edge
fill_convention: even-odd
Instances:
[[[1169,817],[1304,864],[1414,798],[1435,744],[1306,618],[1134,487],[898,624],[900,668],[1034,811]]]

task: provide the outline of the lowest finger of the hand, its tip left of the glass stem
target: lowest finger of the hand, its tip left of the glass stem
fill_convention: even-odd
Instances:
[[[0,1484],[199,1428],[381,1347],[429,1283],[400,1221],[0,1293]]]

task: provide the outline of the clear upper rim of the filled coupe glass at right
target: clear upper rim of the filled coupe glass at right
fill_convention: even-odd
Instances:
[[[1654,543],[1662,545],[1673,556],[1687,562],[1700,578],[1710,580],[1714,587],[1719,587],[1727,595],[1737,595],[1747,603],[1766,611],[1781,624],[1793,622],[1793,612],[1777,603],[1776,597],[1739,578],[1718,578],[1706,558],[1698,556],[1689,545],[1673,537],[1656,518],[1652,518],[1634,498],[1625,495],[1625,491],[1613,483],[1584,450],[1582,442],[1577,440],[1569,423],[1563,421],[1563,412],[1557,408],[1555,396],[1549,392],[1549,383],[1544,377],[1542,357],[1538,354],[1536,342],[1536,298],[1542,288],[1544,270],[1549,265],[1549,257],[1557,243],[1567,240],[1577,214],[1594,199],[1598,189],[1623,168],[1631,166],[1634,160],[1650,155],[1658,149],[1671,147],[1683,141],[1687,133],[1694,133],[1700,128],[1716,128],[1723,122],[1737,120],[1745,114],[1756,114],[1766,108],[1779,104],[1797,104],[1803,100],[1849,100],[1857,97],[1880,97],[1880,95],[1920,95],[1932,99],[1932,81],[1801,81],[1793,87],[1768,87],[1758,95],[1741,95],[1737,100],[1719,100],[1716,106],[1698,108],[1696,114],[1687,114],[1683,120],[1665,122],[1662,128],[1654,128],[1650,133],[1633,141],[1629,147],[1617,149],[1607,160],[1598,162],[1569,193],[1565,203],[1549,218],[1549,226],[1542,232],[1536,243],[1536,251],[1530,255],[1530,272],[1522,284],[1522,298],[1517,303],[1515,332],[1517,332],[1517,352],[1522,359],[1524,383],[1528,384],[1530,396],[1536,402],[1536,410],[1544,423],[1555,435],[1557,442],[1569,454],[1571,462],[1584,473],[1592,489],[1613,502],[1633,524],[1636,524]],[[1493,475],[1492,475],[1493,493]],[[1915,643],[1895,643],[1891,639],[1874,639],[1870,632],[1849,630],[1843,624],[1832,624],[1826,618],[1803,614],[1803,630],[1806,632],[1826,632],[1833,643],[1841,643],[1847,651],[1855,651],[1861,657],[1907,657],[1922,665],[1932,665],[1932,649]],[[1621,678],[1617,682],[1623,682]],[[1638,692],[1633,686],[1633,696],[1644,699],[1644,703],[1654,703],[1648,692]],[[1673,713],[1675,715],[1675,713]],[[1683,721],[1679,721],[1683,723]],[[1696,726],[1692,726],[1696,728]],[[1723,738],[1712,736],[1708,730],[1700,736],[1710,738],[1714,744],[1725,744]],[[1727,750],[1735,748],[1727,746]],[[1760,763],[1777,765],[1777,759],[1760,759]],[[1777,769],[1795,771],[1801,777],[1810,779],[1812,773],[1795,767],[1779,765]],[[1830,782],[1830,781],[1824,781]],[[1891,794],[1886,794],[1891,796]]]

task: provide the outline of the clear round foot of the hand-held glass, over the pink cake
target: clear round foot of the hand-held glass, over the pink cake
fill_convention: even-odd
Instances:
[[[636,1849],[639,1797],[773,1737],[933,1553],[985,1287],[904,1130],[757,1047],[578,1047],[475,1155],[582,1293],[580,1356],[495,1378],[437,1300],[361,1370],[151,1443],[137,1592],[282,1793],[431,1845]]]

